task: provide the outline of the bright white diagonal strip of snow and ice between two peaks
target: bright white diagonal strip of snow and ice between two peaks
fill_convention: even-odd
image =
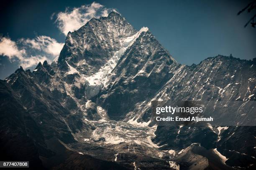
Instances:
[[[87,77],[86,80],[90,83],[90,85],[98,85],[103,84],[104,86],[108,82],[108,77],[111,74],[111,71],[114,69],[114,67],[117,65],[118,60],[123,55],[123,53],[127,50],[128,47],[130,47],[133,42],[141,35],[141,32],[148,31],[147,27],[141,28],[136,34],[134,34],[131,37],[127,37],[122,42],[122,47],[120,50],[116,51],[111,57],[108,62],[100,68],[98,72],[96,72],[94,75]]]

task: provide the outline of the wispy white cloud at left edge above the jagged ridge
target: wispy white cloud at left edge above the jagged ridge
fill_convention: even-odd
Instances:
[[[10,62],[18,61],[24,68],[32,67],[47,60],[51,62],[59,55],[64,43],[47,36],[34,39],[13,41],[9,37],[0,37],[0,55],[7,56]]]

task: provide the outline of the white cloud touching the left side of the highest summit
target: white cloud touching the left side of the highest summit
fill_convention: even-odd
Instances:
[[[108,16],[108,13],[112,9],[106,8],[103,5],[92,2],[90,5],[82,5],[81,7],[75,7],[72,10],[66,8],[64,12],[56,14],[56,23],[59,30],[67,35],[69,31],[78,30],[84,24],[86,24],[91,18],[99,18],[100,16]],[[51,15],[51,19],[54,14]]]

